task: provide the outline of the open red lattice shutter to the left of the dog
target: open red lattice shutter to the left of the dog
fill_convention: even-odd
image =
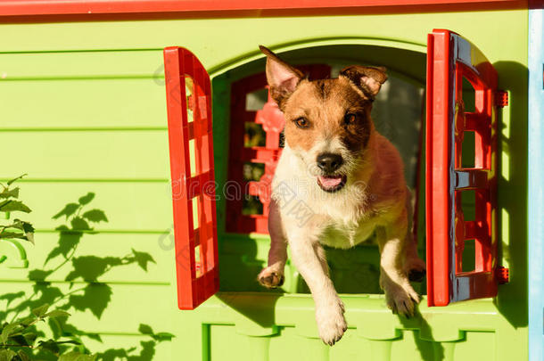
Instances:
[[[210,77],[188,50],[164,49],[174,203],[177,305],[194,309],[219,289]]]

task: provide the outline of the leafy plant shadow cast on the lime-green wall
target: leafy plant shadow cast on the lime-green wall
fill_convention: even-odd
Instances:
[[[68,203],[54,215],[54,219],[62,220],[61,226],[56,228],[59,240],[45,258],[44,266],[29,271],[28,279],[33,282],[31,294],[24,291],[5,293],[0,300],[7,302],[6,308],[0,310],[0,320],[8,322],[21,316],[27,316],[33,308],[49,304],[54,308],[62,309],[74,315],[77,312],[89,310],[97,319],[101,319],[103,311],[108,307],[113,291],[111,287],[98,281],[115,267],[137,265],[147,272],[150,263],[155,263],[149,253],[137,250],[128,250],[124,257],[78,256],[78,245],[84,237],[97,234],[94,226],[108,222],[108,217],[102,209],[91,209],[90,203],[95,193],[87,193],[77,202]],[[63,291],[59,283],[49,280],[59,273],[65,274],[65,281],[70,283],[68,291]],[[65,289],[64,289],[65,290]],[[58,345],[59,349],[40,349],[35,357],[40,360],[56,360],[55,354],[62,353],[62,348],[76,348],[82,353],[94,353],[87,349],[85,342],[97,340],[103,342],[100,334],[86,332],[75,324],[70,324],[66,316],[51,318],[45,324],[45,331],[32,326],[31,332],[38,337],[53,336],[54,340],[62,339],[66,343]],[[136,330],[135,330],[136,331]],[[140,324],[137,332],[148,337],[140,341],[139,348],[106,349],[95,353],[97,360],[113,361],[123,359],[128,361],[151,361],[155,355],[158,343],[171,340],[174,335],[168,332],[153,332],[151,326]],[[34,359],[34,357],[32,358]]]

